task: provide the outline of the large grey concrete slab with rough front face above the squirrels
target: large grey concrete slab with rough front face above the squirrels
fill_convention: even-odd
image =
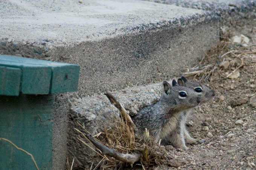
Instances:
[[[0,6],[0,54],[79,64],[81,96],[168,79],[219,42],[214,13],[148,1]]]

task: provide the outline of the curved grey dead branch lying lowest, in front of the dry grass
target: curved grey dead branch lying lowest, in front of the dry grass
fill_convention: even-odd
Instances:
[[[84,134],[87,139],[90,140],[90,142],[102,152],[103,155],[108,155],[119,161],[129,164],[134,164],[135,162],[140,160],[140,154],[120,154],[119,152],[116,152],[113,149],[110,149],[107,146],[98,142],[98,140],[96,140],[90,133],[85,132]]]

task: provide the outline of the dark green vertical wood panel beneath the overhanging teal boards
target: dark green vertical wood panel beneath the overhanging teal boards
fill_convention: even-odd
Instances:
[[[52,169],[53,97],[0,97],[0,137],[33,155],[40,170]],[[1,170],[35,170],[29,155],[0,140]]]

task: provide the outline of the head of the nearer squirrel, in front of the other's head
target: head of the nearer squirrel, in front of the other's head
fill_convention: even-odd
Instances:
[[[181,111],[197,106],[201,98],[193,89],[179,86],[177,82],[173,80],[172,86],[166,81],[163,82],[163,94],[160,101],[166,103],[174,110]]]

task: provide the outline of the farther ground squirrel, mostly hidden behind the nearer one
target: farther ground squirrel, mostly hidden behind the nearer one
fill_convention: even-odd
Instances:
[[[207,101],[213,99],[213,97],[215,96],[215,91],[213,91],[212,89],[204,86],[203,84],[200,84],[198,82],[189,82],[187,81],[187,79],[185,77],[181,77],[180,79],[178,79],[178,84],[180,86],[186,86],[188,88],[193,89],[198,96],[201,97],[201,102],[200,104],[206,103]],[[186,143],[192,145],[192,144],[199,144],[202,142],[205,142],[204,139],[201,138],[192,138],[189,135],[189,132],[186,129],[186,121],[187,118],[189,117],[189,114],[191,112],[192,109],[188,109],[188,110],[184,110],[180,116],[180,128],[181,128],[181,132],[183,131],[184,133],[184,139],[186,141]],[[181,139],[182,140],[182,139]]]

